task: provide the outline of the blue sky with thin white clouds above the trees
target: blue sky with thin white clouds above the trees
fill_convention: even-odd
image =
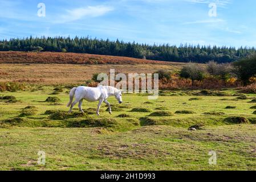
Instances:
[[[38,3],[46,16],[38,16]],[[217,16],[209,16],[215,3]],[[91,36],[148,44],[256,46],[254,0],[0,0],[0,39]]]

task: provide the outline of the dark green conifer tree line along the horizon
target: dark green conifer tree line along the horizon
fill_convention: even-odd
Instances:
[[[254,47],[212,47],[188,44],[181,44],[180,46],[149,45],[123,42],[118,39],[115,41],[92,39],[88,36],[84,38],[77,36],[75,38],[60,36],[33,38],[30,36],[22,39],[0,40],[0,51],[75,52],[196,63],[206,63],[211,60],[217,63],[230,63],[256,53]]]

